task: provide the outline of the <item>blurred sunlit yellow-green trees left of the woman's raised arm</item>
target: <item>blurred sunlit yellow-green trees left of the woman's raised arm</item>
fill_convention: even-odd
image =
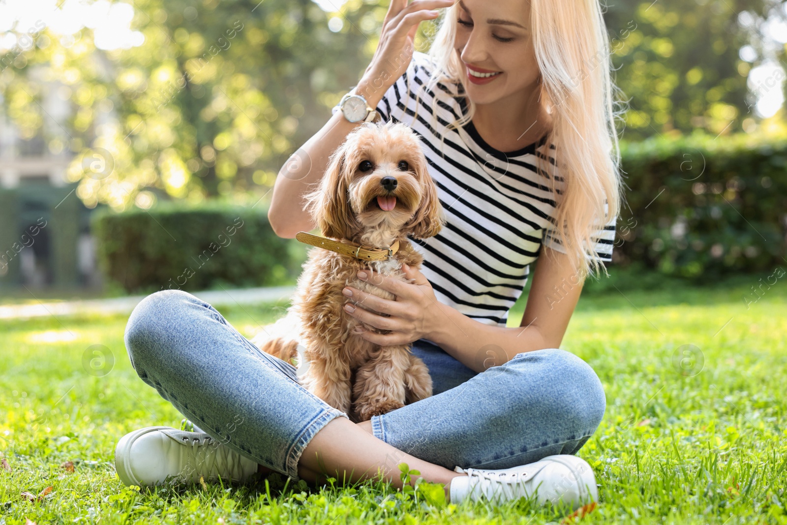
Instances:
[[[73,41],[44,29],[0,76],[24,139],[49,118],[47,83],[65,85],[72,116],[61,129],[79,153],[68,177],[89,206],[147,208],[155,194],[199,201],[271,187],[357,83],[386,13],[360,0],[334,15],[312,0],[134,6],[141,46],[104,51],[89,28]]]

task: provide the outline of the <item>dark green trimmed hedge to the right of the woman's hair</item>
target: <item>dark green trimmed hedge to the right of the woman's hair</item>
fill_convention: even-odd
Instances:
[[[621,150],[616,264],[700,282],[787,267],[787,139],[691,135]]]

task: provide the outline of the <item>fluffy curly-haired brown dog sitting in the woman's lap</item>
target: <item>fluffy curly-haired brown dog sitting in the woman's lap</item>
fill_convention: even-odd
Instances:
[[[429,397],[429,372],[412,355],[410,345],[377,346],[361,338],[359,325],[387,331],[345,313],[347,300],[342,295],[349,285],[395,299],[390,292],[357,279],[356,272],[371,268],[404,279],[403,263],[419,268],[423,261],[407,236],[431,237],[442,227],[437,187],[427,172],[417,135],[405,124],[362,124],[334,151],[320,187],[305,199],[326,237],[386,249],[398,241],[399,249],[388,261],[360,261],[322,248],[310,251],[287,315],[294,316],[290,326],[297,327],[309,365],[301,383],[329,405],[354,412],[360,421]],[[297,354],[298,342],[291,335],[255,342],[284,360]]]

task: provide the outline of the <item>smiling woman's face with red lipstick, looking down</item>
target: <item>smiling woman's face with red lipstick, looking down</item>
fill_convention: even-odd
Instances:
[[[538,82],[527,0],[459,0],[454,48],[475,104],[532,92]]]

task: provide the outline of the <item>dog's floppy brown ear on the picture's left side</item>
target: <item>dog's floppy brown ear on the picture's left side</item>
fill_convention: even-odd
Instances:
[[[326,237],[351,238],[356,224],[349,205],[349,177],[352,167],[347,165],[347,142],[334,150],[320,182],[320,187],[305,196],[307,209]]]

